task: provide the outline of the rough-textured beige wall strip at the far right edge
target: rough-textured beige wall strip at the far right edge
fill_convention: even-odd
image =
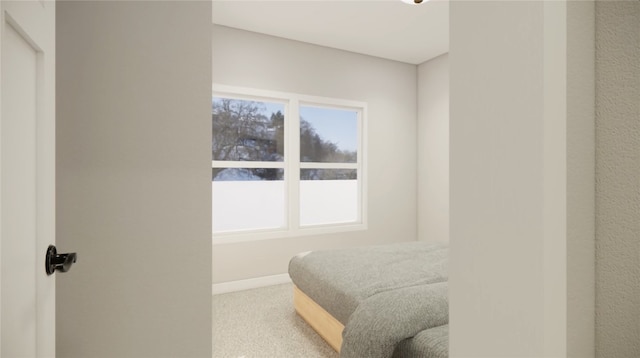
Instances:
[[[596,3],[596,355],[640,357],[640,1]]]

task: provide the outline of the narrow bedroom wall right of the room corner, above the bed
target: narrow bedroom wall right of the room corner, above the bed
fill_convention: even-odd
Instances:
[[[418,239],[449,241],[449,55],[418,66]]]

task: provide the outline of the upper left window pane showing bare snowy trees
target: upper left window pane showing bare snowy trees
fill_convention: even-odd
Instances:
[[[281,162],[284,104],[213,97],[213,160]]]

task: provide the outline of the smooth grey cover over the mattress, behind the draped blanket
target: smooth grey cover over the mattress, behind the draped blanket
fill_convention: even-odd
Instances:
[[[293,283],[342,324],[375,294],[448,281],[448,244],[406,242],[314,251],[289,262]]]

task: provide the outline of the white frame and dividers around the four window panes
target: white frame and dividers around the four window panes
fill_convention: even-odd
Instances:
[[[270,239],[283,239],[302,236],[329,235],[343,232],[361,231],[367,229],[367,104],[361,101],[302,95],[296,93],[268,91],[254,88],[213,84],[213,96],[233,97],[246,100],[264,100],[283,103],[285,105],[285,119],[299,118],[300,105],[314,107],[358,110],[358,160],[357,163],[300,163],[300,151],[292,148],[300,147],[300,136],[290,135],[300,132],[300,122],[285,120],[285,161],[284,162],[239,162],[212,161],[213,166],[232,168],[283,168],[285,170],[286,190],[286,227],[276,229],[250,229],[246,231],[230,231],[212,233],[213,244],[238,243]],[[323,224],[300,227],[299,217],[299,183],[300,169],[328,168],[328,169],[357,169],[358,170],[358,202],[359,211],[356,222]],[[213,200],[213,198],[212,198]]]

